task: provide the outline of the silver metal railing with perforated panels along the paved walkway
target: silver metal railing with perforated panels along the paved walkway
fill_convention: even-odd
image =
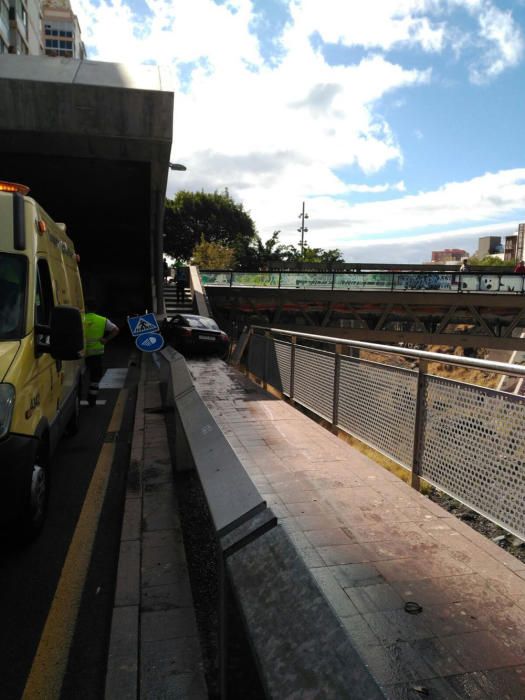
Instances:
[[[363,351],[411,367],[364,359]],[[525,539],[525,397],[430,374],[430,362],[525,367],[253,326],[245,366],[304,406]]]

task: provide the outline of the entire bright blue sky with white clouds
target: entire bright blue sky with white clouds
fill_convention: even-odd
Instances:
[[[348,261],[474,253],[525,221],[525,0],[74,0],[93,60],[170,66],[168,195]]]

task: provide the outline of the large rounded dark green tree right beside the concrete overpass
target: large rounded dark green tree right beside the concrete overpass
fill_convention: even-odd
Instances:
[[[255,224],[243,205],[224,192],[178,192],[166,200],[164,250],[188,260],[201,238],[235,248],[238,254],[256,238]]]

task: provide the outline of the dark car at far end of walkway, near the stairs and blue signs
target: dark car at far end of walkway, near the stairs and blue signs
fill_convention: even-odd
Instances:
[[[166,342],[183,354],[213,353],[226,355],[230,339],[212,318],[193,314],[175,314],[162,326]]]

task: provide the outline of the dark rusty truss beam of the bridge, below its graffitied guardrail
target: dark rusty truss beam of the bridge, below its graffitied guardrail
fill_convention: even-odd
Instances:
[[[278,325],[341,338],[525,350],[525,296],[207,287],[227,328]]]

